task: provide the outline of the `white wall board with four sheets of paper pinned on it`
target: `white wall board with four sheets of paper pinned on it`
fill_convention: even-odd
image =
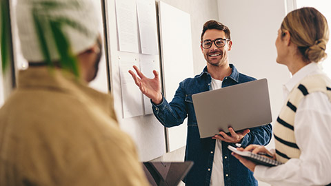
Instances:
[[[157,14],[152,13],[156,12],[155,2],[150,0],[105,0],[102,2],[105,7],[110,87],[117,119],[121,130],[128,133],[137,146],[140,160],[150,161],[165,154],[164,127],[151,114],[150,99],[143,98],[128,70],[134,71],[132,65],[137,65],[146,76],[150,77],[152,70],[159,71],[160,69],[159,50],[157,50],[157,54],[142,52],[142,48],[145,46],[148,46],[146,49],[150,51],[149,47],[155,45],[154,40],[159,41],[152,37],[147,39],[142,37],[146,35],[146,32],[152,32],[151,30],[155,32],[154,36],[158,36]],[[153,8],[154,10],[152,10]],[[128,29],[127,26],[132,26],[128,23],[130,21],[134,24],[139,21],[141,23],[139,27],[134,26],[134,28]],[[120,27],[118,27],[119,24],[121,24]],[[123,38],[119,34],[126,37]],[[136,38],[138,42],[136,42]],[[145,43],[141,43],[141,38]],[[131,47],[126,45],[128,42],[134,43],[132,48],[133,45],[136,48],[137,43],[138,50],[127,51],[127,47]]]

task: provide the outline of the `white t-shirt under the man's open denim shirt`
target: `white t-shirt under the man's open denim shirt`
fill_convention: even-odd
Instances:
[[[221,80],[213,79],[211,82],[212,90],[217,90],[222,87]],[[210,178],[210,186],[223,186],[223,158],[222,158],[222,141],[216,140],[214,161],[212,162],[212,177]]]

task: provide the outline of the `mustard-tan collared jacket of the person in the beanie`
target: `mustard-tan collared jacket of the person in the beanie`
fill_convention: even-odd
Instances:
[[[0,185],[148,185],[112,97],[60,70],[19,72],[0,109]]]

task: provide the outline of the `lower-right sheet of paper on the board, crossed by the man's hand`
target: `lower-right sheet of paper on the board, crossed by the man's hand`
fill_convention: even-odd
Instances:
[[[153,70],[157,70],[160,73],[160,62],[159,56],[150,56],[150,55],[141,55],[140,56],[140,66],[141,72],[150,78],[154,78]],[[161,81],[161,80],[160,80]],[[143,95],[143,107],[145,110],[145,114],[152,114],[152,103],[150,103],[150,99]]]

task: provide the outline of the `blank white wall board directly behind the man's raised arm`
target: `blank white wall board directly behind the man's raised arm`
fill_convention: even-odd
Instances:
[[[190,14],[159,2],[163,89],[171,101],[179,83],[194,76]],[[186,145],[187,119],[168,132],[168,151]]]

